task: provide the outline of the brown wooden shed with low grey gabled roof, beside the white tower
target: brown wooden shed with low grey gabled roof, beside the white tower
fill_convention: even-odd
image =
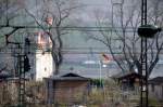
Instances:
[[[75,103],[85,98],[88,93],[90,79],[77,73],[65,73],[52,78],[45,78],[47,103]]]

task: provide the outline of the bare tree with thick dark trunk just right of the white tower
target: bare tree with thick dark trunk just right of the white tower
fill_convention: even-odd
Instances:
[[[63,61],[62,36],[67,34],[65,28],[70,27],[71,15],[80,5],[74,0],[43,0],[37,11],[39,16],[30,11],[26,12],[35,19],[37,25],[50,37],[52,42],[51,53],[55,65],[55,75],[59,73]]]

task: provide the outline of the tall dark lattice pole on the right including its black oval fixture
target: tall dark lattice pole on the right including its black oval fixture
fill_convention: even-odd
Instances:
[[[148,107],[148,38],[153,38],[161,28],[147,24],[147,0],[141,0],[141,26],[138,35],[141,37],[141,71],[140,71],[140,107]]]

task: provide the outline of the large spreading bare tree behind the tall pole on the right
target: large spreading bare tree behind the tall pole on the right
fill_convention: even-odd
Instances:
[[[140,1],[121,0],[118,3],[112,2],[112,17],[108,17],[106,25],[103,21],[106,18],[97,18],[97,26],[100,28],[100,36],[91,34],[90,38],[102,42],[109,48],[113,59],[122,71],[141,71],[140,62],[140,38],[137,35],[137,28],[140,25]],[[160,0],[148,8],[148,24],[162,26],[161,18],[163,14],[159,5]],[[115,10],[116,9],[116,10]],[[160,11],[159,11],[160,10]],[[161,24],[161,25],[160,25]],[[108,27],[110,29],[103,30]],[[149,76],[160,59],[163,46],[162,34],[156,34],[153,39],[148,39],[148,72]],[[142,57],[145,57],[145,52]]]

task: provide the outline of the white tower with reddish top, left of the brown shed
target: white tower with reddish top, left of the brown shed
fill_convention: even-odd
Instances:
[[[36,43],[38,49],[36,50],[36,80],[42,80],[42,78],[49,78],[53,75],[53,59],[51,55],[51,41],[49,36],[43,32],[38,32],[36,36]]]

